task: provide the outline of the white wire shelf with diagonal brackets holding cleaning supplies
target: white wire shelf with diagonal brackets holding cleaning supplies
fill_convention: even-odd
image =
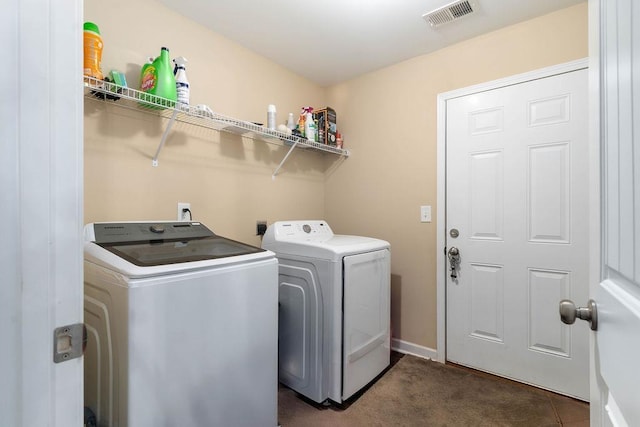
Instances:
[[[269,130],[255,123],[234,119],[222,114],[215,113],[208,108],[197,107],[194,105],[180,104],[160,96],[151,95],[136,89],[120,86],[115,83],[109,83],[98,80],[94,77],[84,76],[85,96],[90,99],[103,100],[118,105],[122,108],[134,109],[165,117],[170,120],[162,141],[153,159],[153,165],[158,165],[158,155],[164,145],[166,134],[171,129],[174,121],[188,123],[194,126],[201,126],[208,129],[214,129],[221,132],[241,135],[254,140],[264,141],[271,144],[290,146],[290,150],[283,159],[278,169],[274,172],[274,176],[282,167],[284,161],[289,157],[291,151],[295,147],[309,148],[327,153],[337,154],[340,156],[349,156],[349,150],[341,149],[332,145],[322,144],[319,142],[309,141],[286,133]]]

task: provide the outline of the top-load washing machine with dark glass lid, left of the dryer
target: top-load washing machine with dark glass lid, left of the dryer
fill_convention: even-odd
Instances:
[[[278,263],[199,222],[85,226],[98,426],[276,426]]]

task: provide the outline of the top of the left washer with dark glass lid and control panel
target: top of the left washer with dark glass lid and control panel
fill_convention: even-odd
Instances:
[[[84,258],[143,278],[274,258],[268,250],[215,235],[199,222],[87,224]]]

